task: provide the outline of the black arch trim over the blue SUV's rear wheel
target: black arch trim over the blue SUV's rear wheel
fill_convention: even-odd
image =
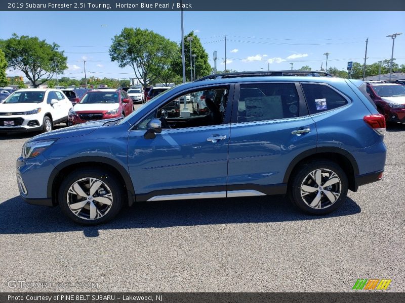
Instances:
[[[334,153],[334,154],[339,154],[344,156],[347,160],[349,160],[352,168],[353,168],[353,173],[354,176],[357,176],[359,174],[358,171],[358,165],[354,157],[349,153],[349,151],[339,148],[339,147],[315,147],[311,148],[308,150],[305,150],[303,153],[299,154],[297,157],[291,161],[290,165],[288,166],[286,170],[286,174],[284,175],[283,183],[288,183],[290,179],[290,175],[293,172],[294,168],[297,166],[298,163],[300,163],[303,159],[316,155],[316,154],[321,154],[321,153]],[[353,177],[354,177],[353,176]]]

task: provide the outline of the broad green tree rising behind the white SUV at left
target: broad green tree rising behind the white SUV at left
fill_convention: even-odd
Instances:
[[[11,38],[0,41],[0,47],[9,67],[22,71],[34,87],[53,77],[56,72],[55,62],[58,73],[67,69],[67,57],[63,51],[58,51],[59,45],[49,44],[38,37],[18,36],[14,33]]]

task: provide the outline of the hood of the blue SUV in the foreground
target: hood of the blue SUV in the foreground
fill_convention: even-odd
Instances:
[[[116,119],[105,119],[99,120],[94,122],[87,122],[87,123],[80,123],[74,126],[64,127],[61,129],[52,130],[37,136],[32,137],[27,142],[37,141],[37,140],[47,140],[47,139],[54,139],[54,138],[68,138],[68,137],[77,137],[77,136],[85,136],[96,129],[103,126],[104,123],[108,121],[112,121]]]

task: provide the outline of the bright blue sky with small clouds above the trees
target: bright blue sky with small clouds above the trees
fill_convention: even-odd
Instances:
[[[180,12],[0,12],[0,38],[13,32],[56,42],[68,57],[71,78],[87,75],[108,78],[135,77],[131,68],[111,62],[111,38],[124,27],[153,30],[179,42]],[[395,39],[396,63],[405,63],[404,12],[184,12],[184,33],[194,30],[214,66],[223,70],[224,35],[227,36],[227,68],[237,71],[289,70],[309,65],[319,70],[346,69],[348,61],[363,63],[368,44],[368,64],[391,58]],[[10,71],[8,75],[22,75]]]

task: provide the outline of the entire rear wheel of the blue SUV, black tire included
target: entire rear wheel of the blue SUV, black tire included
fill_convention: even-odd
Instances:
[[[289,187],[290,200],[302,211],[325,215],[337,210],[346,200],[346,173],[334,162],[310,161],[293,171]],[[319,182],[321,184],[317,184]],[[328,183],[327,187],[323,185]]]

